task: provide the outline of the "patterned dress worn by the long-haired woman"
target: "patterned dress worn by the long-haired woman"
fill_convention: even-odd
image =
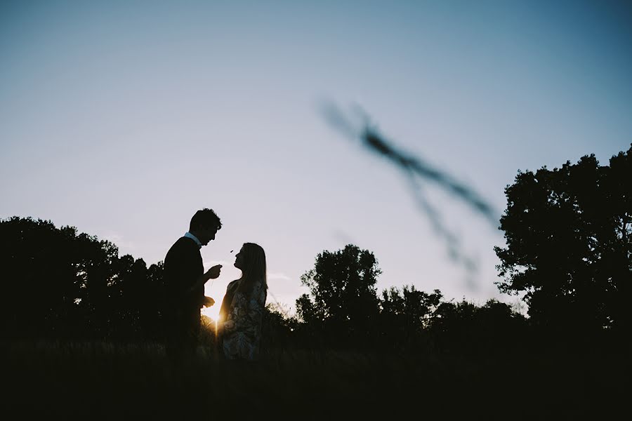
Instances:
[[[224,325],[223,349],[226,358],[247,361],[259,358],[267,295],[262,281],[255,283],[250,300],[242,292],[235,293],[228,312],[228,323]]]

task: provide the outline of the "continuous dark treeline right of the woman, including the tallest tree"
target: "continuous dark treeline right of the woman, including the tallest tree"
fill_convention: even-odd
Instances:
[[[298,319],[286,318],[291,332],[311,345],[448,352],[629,346],[632,147],[607,166],[590,155],[553,170],[519,171],[505,194],[496,285],[523,295],[528,319],[494,300],[481,307],[442,301],[438,290],[378,295],[374,255],[350,245],[324,251],[303,275],[310,293],[296,302]]]

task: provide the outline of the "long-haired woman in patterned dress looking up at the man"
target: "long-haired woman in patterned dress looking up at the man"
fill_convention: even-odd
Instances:
[[[241,269],[242,277],[228,284],[220,308],[221,351],[228,359],[256,361],[268,295],[265,252],[255,243],[244,243],[234,265]]]

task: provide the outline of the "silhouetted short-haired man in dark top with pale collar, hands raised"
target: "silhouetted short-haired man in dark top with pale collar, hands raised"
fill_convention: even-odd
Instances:
[[[174,362],[195,354],[200,329],[199,309],[214,304],[204,296],[204,283],[216,279],[222,265],[204,273],[199,249],[215,239],[222,227],[211,209],[198,210],[189,231],[171,246],[164,258],[166,352]]]

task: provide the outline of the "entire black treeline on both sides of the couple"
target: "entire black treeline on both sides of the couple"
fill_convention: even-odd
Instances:
[[[528,318],[490,300],[445,300],[413,287],[375,288],[369,250],[324,250],[301,276],[296,314],[268,309],[268,347],[503,352],[571,343],[629,345],[632,147],[553,171],[519,172],[506,188],[499,289],[522,293]],[[162,263],[147,267],[74,227],[0,220],[4,338],[161,340]],[[211,325],[212,326],[212,325]],[[212,337],[212,335],[211,335]],[[614,341],[614,342],[613,342]]]

